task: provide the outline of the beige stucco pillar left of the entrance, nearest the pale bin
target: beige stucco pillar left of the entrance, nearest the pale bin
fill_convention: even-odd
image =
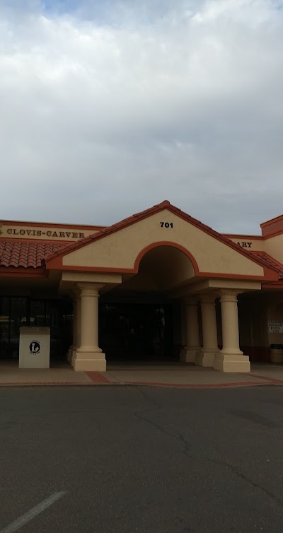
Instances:
[[[101,285],[78,283],[81,291],[81,339],[74,370],[106,370],[105,354],[98,346],[98,298]]]

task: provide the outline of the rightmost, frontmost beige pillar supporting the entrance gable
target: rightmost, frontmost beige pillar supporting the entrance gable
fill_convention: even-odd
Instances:
[[[238,300],[236,291],[221,291],[223,348],[217,354],[214,368],[221,372],[250,372],[250,361],[239,346]]]

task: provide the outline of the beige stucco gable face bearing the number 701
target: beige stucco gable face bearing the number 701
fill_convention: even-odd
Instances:
[[[161,222],[173,223],[173,228],[161,228]],[[263,275],[262,266],[166,209],[67,254],[63,265],[132,269],[139,252],[158,241],[187,248],[202,272]]]

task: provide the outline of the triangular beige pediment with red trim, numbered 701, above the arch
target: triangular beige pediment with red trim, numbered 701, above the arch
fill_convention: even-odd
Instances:
[[[59,250],[46,258],[47,268],[134,273],[144,254],[158,246],[181,250],[195,276],[278,279],[262,259],[168,201]]]

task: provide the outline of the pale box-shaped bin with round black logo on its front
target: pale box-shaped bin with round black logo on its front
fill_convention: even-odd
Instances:
[[[50,368],[50,327],[20,327],[19,368]]]

